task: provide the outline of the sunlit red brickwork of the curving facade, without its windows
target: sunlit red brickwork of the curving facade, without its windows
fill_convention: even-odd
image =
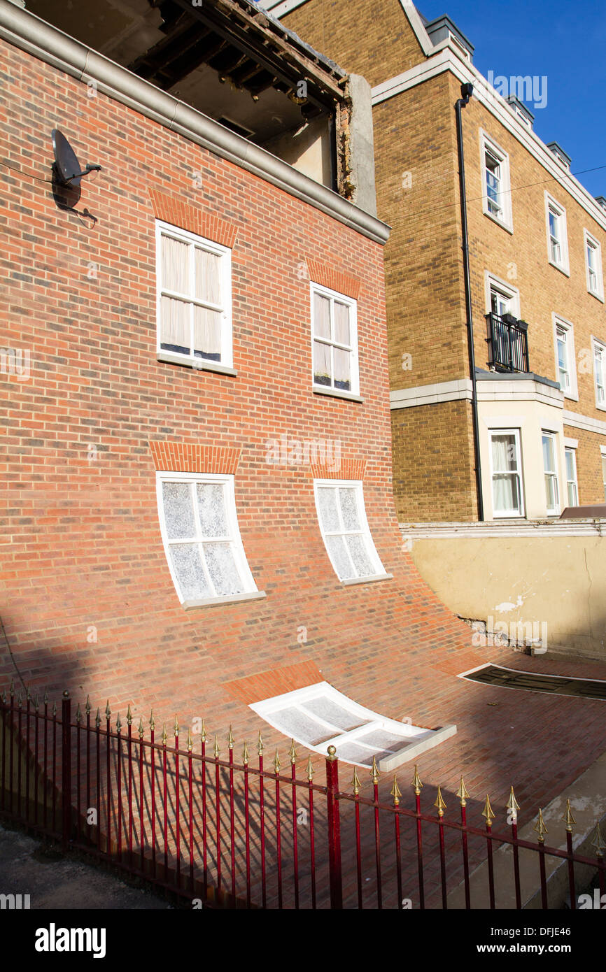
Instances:
[[[3,341],[31,355],[26,380],[0,375],[2,616],[23,678],[89,692],[94,706],[109,698],[114,712],[130,702],[137,717],[153,707],[241,731],[259,720],[222,683],[308,663],[360,703],[399,711],[393,665],[437,638],[469,639],[401,550],[381,247],[28,54],[3,45],[2,56]],[[102,166],[83,181],[80,216],[53,201],[55,125],[83,163]],[[156,360],[150,191],[181,199],[200,226],[237,229],[235,377]],[[363,403],[311,391],[308,258],[361,281]],[[343,463],[365,469],[393,580],[340,586],[310,469],[267,465],[267,440],[282,434],[339,440]],[[237,516],[267,599],[186,614],[160,539],[155,455],[203,465],[219,461],[215,447],[224,463],[239,452]],[[0,659],[4,680],[7,650]]]

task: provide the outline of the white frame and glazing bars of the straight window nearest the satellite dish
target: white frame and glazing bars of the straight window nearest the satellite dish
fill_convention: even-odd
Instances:
[[[190,249],[189,260],[194,260],[194,252],[196,246],[207,253],[211,253],[216,257],[219,257],[220,268],[221,268],[221,291],[223,295],[223,308],[219,310],[221,313],[221,359],[215,361],[210,358],[196,357],[194,354],[194,348],[190,349],[190,354],[182,354],[177,351],[169,351],[161,347],[161,297],[162,295],[174,296],[176,292],[169,291],[167,288],[162,287],[162,259],[161,259],[161,240],[162,236],[167,235],[172,239],[178,240],[180,243],[186,243]],[[190,272],[192,268],[190,267]],[[177,295],[179,299],[183,299],[185,295]],[[199,300],[196,297],[185,301],[188,302],[190,307],[202,306],[209,307],[211,309],[219,309],[219,305],[210,304],[209,301]],[[191,311],[193,315],[193,311]],[[193,324],[190,324],[193,327]],[[183,229],[181,226],[174,226],[171,223],[166,223],[163,220],[156,220],[156,350],[157,357],[160,361],[168,362],[171,364],[185,364],[194,368],[195,370],[210,370],[210,371],[222,371],[229,374],[234,374],[233,371],[233,321],[232,321],[232,250],[229,247],[223,246],[221,243],[215,243],[212,240],[207,239],[204,236],[199,236],[197,233],[191,232],[189,229]]]

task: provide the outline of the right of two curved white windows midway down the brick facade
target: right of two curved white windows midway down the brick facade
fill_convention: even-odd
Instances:
[[[371,537],[362,483],[315,479],[313,488],[320,531],[339,580],[387,576]]]

